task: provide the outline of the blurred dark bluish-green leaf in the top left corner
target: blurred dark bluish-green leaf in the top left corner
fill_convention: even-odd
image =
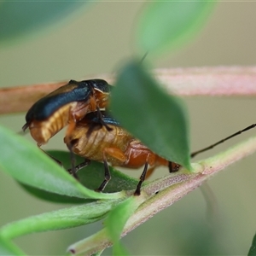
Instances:
[[[3,1],[0,4],[0,41],[14,43],[29,32],[52,29],[57,20],[63,20],[81,9],[85,1]],[[7,42],[6,42],[7,43]]]

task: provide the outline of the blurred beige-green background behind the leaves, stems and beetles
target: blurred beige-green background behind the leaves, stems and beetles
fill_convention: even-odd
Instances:
[[[58,25],[10,47],[0,46],[0,86],[79,80],[88,75],[113,73],[127,57],[136,55],[133,32],[144,4],[99,2],[85,5],[64,21],[63,26]],[[199,36],[154,62],[154,67],[254,65],[255,23],[256,3],[218,3]],[[193,97],[185,101],[189,106],[193,150],[256,122],[253,98]],[[25,123],[24,116],[25,113],[1,116],[0,123],[20,131]],[[249,131],[198,159],[255,132]],[[29,135],[26,137],[31,139]],[[62,137],[63,132],[44,148],[65,148]],[[140,175],[134,171],[127,173]],[[160,169],[154,177],[166,173],[166,169]],[[0,172],[0,179],[0,225],[65,207],[28,195],[3,172]],[[256,231],[255,181],[256,160],[252,155],[208,182],[217,201],[208,201],[215,209],[213,214],[207,213],[207,201],[201,190],[196,189],[133,230],[123,243],[133,255],[245,255]],[[15,242],[28,254],[63,255],[69,244],[90,236],[101,226],[101,223],[90,224],[73,230],[29,235]],[[107,250],[105,254],[110,252]]]

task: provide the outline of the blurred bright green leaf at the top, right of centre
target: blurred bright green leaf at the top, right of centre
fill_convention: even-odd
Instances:
[[[179,46],[205,24],[213,1],[148,3],[137,26],[137,44],[150,54]]]

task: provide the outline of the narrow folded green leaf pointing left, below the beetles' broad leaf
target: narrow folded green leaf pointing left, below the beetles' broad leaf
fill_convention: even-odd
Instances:
[[[54,212],[24,218],[3,226],[0,236],[12,239],[17,236],[49,230],[63,230],[96,222],[106,216],[117,201],[97,201],[78,207],[69,207]]]

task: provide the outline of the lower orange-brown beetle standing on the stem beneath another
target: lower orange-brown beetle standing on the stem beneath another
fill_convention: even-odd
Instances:
[[[86,160],[102,161],[104,163],[105,179],[99,186],[102,191],[110,180],[108,162],[112,166],[139,168],[144,166],[140,181],[134,195],[140,195],[140,190],[147,173],[150,175],[157,166],[168,166],[170,172],[177,172],[179,165],[155,154],[137,138],[125,131],[116,119],[106,111],[101,111],[103,121],[111,128],[110,131],[102,125],[96,112],[87,113],[64,138],[74,154]],[[151,166],[148,169],[148,165]],[[82,167],[82,166],[80,166]],[[79,169],[80,169],[79,167]],[[75,172],[79,171],[76,168]]]

